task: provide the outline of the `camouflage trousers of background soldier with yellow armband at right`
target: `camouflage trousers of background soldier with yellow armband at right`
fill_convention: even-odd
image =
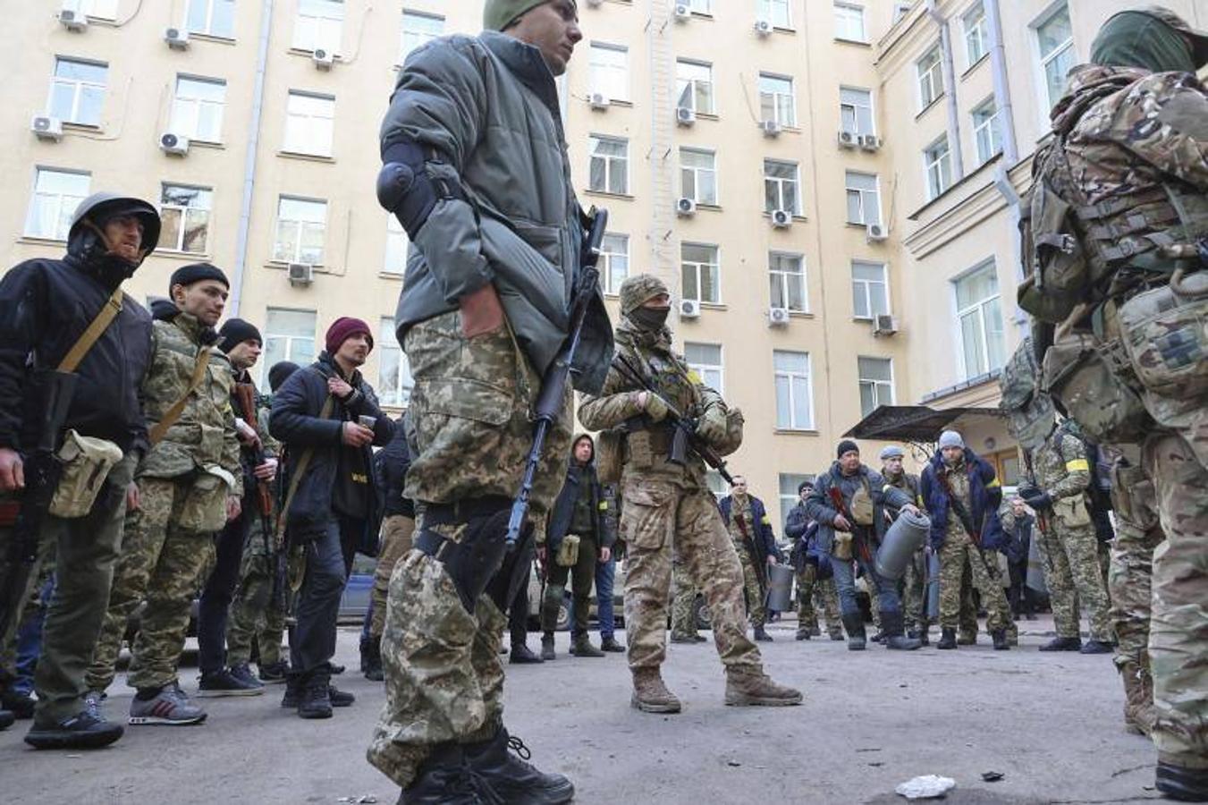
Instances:
[[[1045,583],[1057,637],[1078,637],[1080,612],[1086,610],[1091,638],[1110,643],[1110,603],[1099,569],[1094,526],[1073,526],[1050,512],[1045,527],[1040,528],[1040,539],[1045,544]]]

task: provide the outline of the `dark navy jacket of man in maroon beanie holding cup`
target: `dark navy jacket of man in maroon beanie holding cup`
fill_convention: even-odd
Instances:
[[[291,529],[308,531],[326,522],[332,516],[331,494],[336,486],[336,470],[339,465],[339,451],[352,450],[343,444],[344,423],[356,421],[356,417],[376,417],[373,444],[382,447],[394,436],[394,421],[378,409],[373,388],[353,372],[352,378],[344,378],[353,387],[354,394],[349,404],[336,400],[331,416],[320,419],[323,404],[327,399],[327,378],[338,376],[339,371],[327,353],[289,376],[277,393],[273,394],[273,413],[268,421],[268,430],[278,439],[285,450],[285,488],[292,482],[298,461],[308,447],[314,448],[306,475],[298,483],[297,493],[290,504],[286,523]],[[373,531],[382,515],[382,500],[377,492],[373,475],[373,451],[361,447],[362,458],[370,477],[370,494],[373,499],[372,510],[366,512],[365,525]]]

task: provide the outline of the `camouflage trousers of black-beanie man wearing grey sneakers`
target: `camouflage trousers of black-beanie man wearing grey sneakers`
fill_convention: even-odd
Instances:
[[[109,608],[85,676],[89,690],[104,690],[114,682],[126,621],[144,600],[127,683],[156,688],[176,679],[188,610],[214,564],[214,534],[179,525],[192,477],[141,477],[138,483],[139,509],[126,516]]]

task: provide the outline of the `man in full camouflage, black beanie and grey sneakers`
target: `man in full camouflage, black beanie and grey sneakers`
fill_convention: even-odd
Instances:
[[[184,266],[168,283],[173,301],[151,306],[153,352],[143,405],[152,447],[135,475],[138,505],[126,516],[109,608],[85,677],[99,701],[114,681],[126,621],[145,598],[127,676],[138,689],[130,724],[205,720],[180,689],[176,666],[190,604],[214,562],[214,534],[238,516],[243,496],[234,376],[213,348],[228,288],[226,274],[209,263]]]

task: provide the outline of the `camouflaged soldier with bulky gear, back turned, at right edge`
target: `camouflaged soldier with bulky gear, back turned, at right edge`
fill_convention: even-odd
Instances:
[[[1062,204],[1047,208],[1068,213],[1033,215],[1027,255],[1044,282],[1021,297],[1090,338],[1097,348],[1082,354],[1114,357],[1085,393],[1076,376],[1053,392],[1099,441],[1139,445],[1154,483],[1167,537],[1154,554],[1149,641],[1156,784],[1197,801],[1208,800],[1208,91],[1195,75],[1204,64],[1208,34],[1168,10],[1104,23],[1052,111],[1052,146],[1034,161],[1046,192],[1033,208],[1056,196]]]

